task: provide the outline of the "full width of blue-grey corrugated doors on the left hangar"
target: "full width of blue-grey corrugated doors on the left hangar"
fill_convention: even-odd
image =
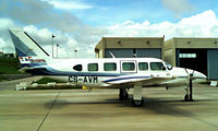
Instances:
[[[132,58],[134,52],[137,58],[161,58],[161,49],[106,49],[105,57],[111,58],[110,52],[117,58]]]

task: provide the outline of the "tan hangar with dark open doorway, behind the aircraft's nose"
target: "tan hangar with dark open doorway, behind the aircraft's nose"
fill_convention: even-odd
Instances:
[[[218,80],[218,38],[173,37],[165,43],[165,60]]]

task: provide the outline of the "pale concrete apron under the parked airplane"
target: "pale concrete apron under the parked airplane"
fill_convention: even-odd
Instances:
[[[194,102],[183,87],[144,88],[145,106],[132,107],[118,90],[14,91],[19,82],[0,83],[0,131],[218,130],[218,87],[194,85]]]

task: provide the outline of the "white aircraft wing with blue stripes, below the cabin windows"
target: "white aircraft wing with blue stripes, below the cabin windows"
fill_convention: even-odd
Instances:
[[[158,84],[172,80],[170,75],[124,75],[112,79],[107,79],[104,82],[110,85],[123,85],[123,84],[136,84],[142,83],[143,85]]]

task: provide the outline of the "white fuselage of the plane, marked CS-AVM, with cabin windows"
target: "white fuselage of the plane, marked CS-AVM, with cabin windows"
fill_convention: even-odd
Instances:
[[[130,83],[125,86],[131,87],[131,82],[153,76],[168,80],[143,85],[184,85],[189,73],[193,72],[187,70],[187,73],[183,68],[171,68],[156,58],[52,59],[47,63],[45,67],[56,74],[52,75],[53,79],[89,87],[120,87],[122,83]],[[197,71],[194,75],[198,79],[206,78]]]

